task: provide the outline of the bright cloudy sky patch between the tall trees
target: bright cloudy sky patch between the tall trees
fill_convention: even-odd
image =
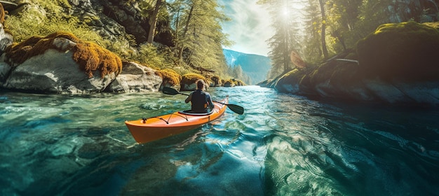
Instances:
[[[267,56],[266,41],[273,36],[270,15],[258,0],[219,0],[225,6],[224,13],[231,21],[222,24],[234,45],[224,47],[236,52]]]

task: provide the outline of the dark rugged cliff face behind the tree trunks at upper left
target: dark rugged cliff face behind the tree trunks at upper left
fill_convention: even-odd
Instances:
[[[133,35],[136,43],[147,41],[149,18],[142,14],[140,5],[129,0],[69,0],[63,5],[70,15],[78,17],[100,35],[109,39],[117,36]],[[169,22],[159,20],[158,34],[154,41],[163,45],[174,46]]]

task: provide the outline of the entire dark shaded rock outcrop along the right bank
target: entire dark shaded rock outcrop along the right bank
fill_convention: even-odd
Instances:
[[[439,31],[415,22],[382,25],[355,51],[294,69],[261,85],[309,97],[439,106]],[[337,59],[359,59],[340,61]]]

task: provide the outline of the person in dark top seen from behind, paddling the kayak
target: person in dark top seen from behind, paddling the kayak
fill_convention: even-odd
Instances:
[[[212,111],[214,105],[210,94],[205,92],[204,80],[196,80],[196,90],[191,92],[184,102],[191,102],[191,111],[193,113],[208,113],[208,108]]]

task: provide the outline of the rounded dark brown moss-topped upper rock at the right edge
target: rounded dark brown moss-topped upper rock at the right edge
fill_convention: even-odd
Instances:
[[[358,41],[360,69],[369,78],[423,81],[439,78],[439,31],[417,22],[385,24]]]

